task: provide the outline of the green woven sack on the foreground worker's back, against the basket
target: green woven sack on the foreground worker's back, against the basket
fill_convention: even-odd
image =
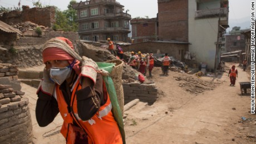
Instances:
[[[115,66],[115,63],[107,63],[107,62],[96,62],[98,67],[100,69],[104,69],[105,71],[111,73],[112,68]],[[125,129],[124,129],[124,121],[122,120],[122,112],[120,110],[119,103],[117,101],[117,96],[116,96],[116,90],[114,87],[114,82],[112,81],[112,78],[110,76],[103,76],[103,80],[106,84],[107,87],[107,92],[109,93],[110,96],[110,101],[112,104],[112,113],[114,115],[114,118],[117,122],[117,125],[119,127],[119,131],[122,136],[122,143],[125,142]]]

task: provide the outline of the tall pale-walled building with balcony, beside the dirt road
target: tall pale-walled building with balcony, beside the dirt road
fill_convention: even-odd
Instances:
[[[192,0],[188,6],[189,51],[213,70],[220,61],[220,38],[228,28],[228,0]]]

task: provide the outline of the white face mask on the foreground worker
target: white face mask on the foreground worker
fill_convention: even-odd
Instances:
[[[76,59],[67,67],[58,68],[52,67],[50,69],[51,80],[58,85],[61,85],[71,75],[72,67],[75,64]]]

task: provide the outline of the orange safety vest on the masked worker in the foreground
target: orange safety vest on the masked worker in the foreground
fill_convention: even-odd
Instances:
[[[68,105],[63,97],[60,90],[60,86],[56,85],[55,96],[58,102],[58,109],[60,110],[61,116],[64,120],[61,133],[66,138],[68,144],[75,143],[76,133],[72,131],[70,126],[75,120],[76,123],[87,133],[88,143],[122,143],[122,137],[117,126],[117,122],[112,115],[111,101],[109,94],[107,93],[107,101],[105,105],[100,107],[100,110],[88,121],[82,121],[78,116],[77,112],[77,101],[76,101],[76,91],[81,89],[81,84],[79,79],[73,87],[71,104],[71,112],[68,112]],[[106,86],[104,83],[104,91],[106,91]],[[70,128],[71,127],[71,128]],[[70,130],[71,129],[71,130]]]

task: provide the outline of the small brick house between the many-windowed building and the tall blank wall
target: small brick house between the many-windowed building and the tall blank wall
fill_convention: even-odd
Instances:
[[[134,43],[143,42],[143,39],[149,41],[157,40],[157,20],[151,19],[131,19],[132,39]]]

